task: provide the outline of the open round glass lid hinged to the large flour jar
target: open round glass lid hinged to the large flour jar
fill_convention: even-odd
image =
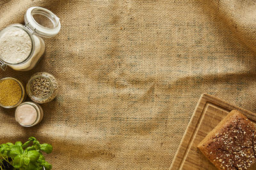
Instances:
[[[39,36],[52,37],[60,32],[60,18],[45,8],[38,6],[29,8],[24,20],[26,27]]]

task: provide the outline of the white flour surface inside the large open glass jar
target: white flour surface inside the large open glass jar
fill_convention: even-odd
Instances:
[[[0,58],[17,64],[24,61],[31,52],[32,42],[26,31],[12,27],[0,37]]]

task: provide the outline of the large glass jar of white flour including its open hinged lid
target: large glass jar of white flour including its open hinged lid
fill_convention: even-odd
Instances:
[[[60,19],[42,7],[31,7],[24,17],[25,25],[12,24],[0,31],[0,67],[18,71],[35,67],[45,51],[41,37],[56,36],[60,31]]]

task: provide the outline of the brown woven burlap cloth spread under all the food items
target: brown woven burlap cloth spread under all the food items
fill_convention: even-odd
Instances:
[[[202,93],[256,111],[256,1],[0,1],[0,28],[30,6],[61,18],[35,69],[60,94],[20,127],[0,109],[0,142],[52,143],[53,169],[168,169]]]

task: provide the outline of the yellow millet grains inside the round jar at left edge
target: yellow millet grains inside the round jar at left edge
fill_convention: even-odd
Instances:
[[[13,79],[5,79],[0,81],[0,103],[3,106],[13,106],[20,101],[21,87],[19,83]]]

